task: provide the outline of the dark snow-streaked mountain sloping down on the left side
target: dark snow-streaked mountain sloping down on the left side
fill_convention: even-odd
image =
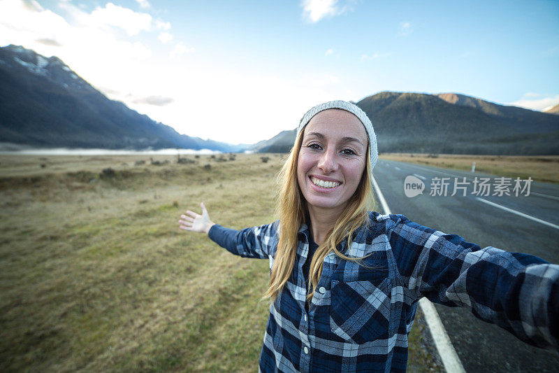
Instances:
[[[57,57],[0,48],[0,141],[41,147],[238,151],[179,134],[112,101]]]

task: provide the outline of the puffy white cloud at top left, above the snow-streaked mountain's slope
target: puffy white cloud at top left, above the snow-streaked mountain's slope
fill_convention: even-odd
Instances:
[[[122,8],[113,3],[107,3],[105,8],[96,8],[89,20],[94,24],[120,27],[129,35],[137,35],[140,31],[147,31],[152,24],[152,16],[147,13],[136,13],[129,8]]]

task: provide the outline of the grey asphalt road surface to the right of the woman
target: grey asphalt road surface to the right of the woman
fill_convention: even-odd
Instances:
[[[559,263],[559,185],[532,182],[530,195],[526,196],[524,190],[515,196],[512,181],[508,187],[511,195],[499,196],[493,195],[496,185],[500,184],[494,176],[386,160],[379,161],[373,174],[392,213],[402,213],[421,225],[458,234],[481,247],[529,253]],[[405,179],[414,174],[415,181],[421,180],[425,190],[416,197],[406,197]],[[488,196],[474,194],[475,176],[491,177],[486,183],[491,188]],[[452,197],[455,178],[463,182],[463,177],[466,177],[465,183],[458,183],[458,186],[465,187],[465,191],[458,189]],[[436,178],[449,178],[442,181],[449,182],[446,196],[442,188],[435,188],[433,183],[439,183]],[[525,186],[524,181],[521,186]],[[430,195],[434,190],[437,195]],[[541,221],[505,211],[477,198]],[[435,307],[466,372],[559,371],[557,351],[525,344],[509,332],[474,317],[467,309],[439,304]]]

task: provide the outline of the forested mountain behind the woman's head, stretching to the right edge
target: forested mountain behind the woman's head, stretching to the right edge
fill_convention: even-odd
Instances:
[[[559,155],[557,115],[456,93],[380,92],[356,104],[371,118],[381,153]],[[295,136],[281,132],[259,151],[289,151]]]

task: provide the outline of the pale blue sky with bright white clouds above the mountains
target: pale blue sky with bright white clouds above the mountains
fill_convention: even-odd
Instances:
[[[181,134],[228,143],[383,91],[559,104],[559,1],[0,0],[9,44],[59,57]]]

